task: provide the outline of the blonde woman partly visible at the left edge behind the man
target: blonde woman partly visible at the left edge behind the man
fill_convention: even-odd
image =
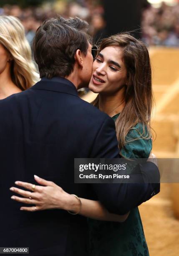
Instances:
[[[20,20],[0,16],[0,100],[28,89],[38,79]]]

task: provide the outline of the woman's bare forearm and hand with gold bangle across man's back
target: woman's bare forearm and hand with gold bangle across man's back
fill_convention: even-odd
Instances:
[[[31,190],[32,192],[18,189],[17,187],[10,188],[11,191],[23,196],[18,197],[13,195],[11,197],[13,200],[29,205],[35,205],[30,207],[21,207],[20,210],[34,212],[47,209],[63,209],[71,212],[78,212],[87,218],[92,218],[95,220],[116,222],[124,222],[129,215],[129,212],[125,215],[116,215],[110,213],[101,204],[101,202],[95,200],[80,198],[81,204],[76,197],[66,193],[54,182],[41,179],[36,175],[34,175],[34,179],[42,186],[36,186],[27,182],[15,182],[16,185]]]

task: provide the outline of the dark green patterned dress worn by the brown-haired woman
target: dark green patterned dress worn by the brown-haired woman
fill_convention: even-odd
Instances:
[[[113,116],[114,121],[118,115]],[[142,133],[143,126],[138,123],[126,141],[139,138]],[[148,158],[151,148],[151,139],[140,138],[126,143],[121,153],[126,158]],[[88,228],[89,256],[149,256],[138,207],[131,210],[124,223],[88,219]]]

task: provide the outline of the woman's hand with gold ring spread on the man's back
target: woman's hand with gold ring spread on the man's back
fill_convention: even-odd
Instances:
[[[36,175],[34,175],[34,179],[36,182],[38,182],[38,184],[43,186],[35,186],[27,182],[15,182],[16,185],[31,190],[33,192],[18,189],[17,187],[10,188],[11,191],[23,196],[18,197],[13,195],[11,199],[25,204],[35,205],[33,207],[21,207],[20,210],[79,210],[80,205],[78,200],[72,195],[66,193],[61,187],[56,185],[54,182],[41,179]]]

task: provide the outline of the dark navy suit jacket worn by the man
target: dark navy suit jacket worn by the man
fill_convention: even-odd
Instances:
[[[37,174],[124,214],[158,193],[159,184],[74,184],[74,158],[116,157],[113,120],[81,100],[67,79],[42,79],[0,100],[0,246],[27,246],[30,255],[86,256],[86,218],[64,210],[20,211],[9,188],[16,180],[34,183]],[[159,175],[152,163],[142,168],[149,180]]]

